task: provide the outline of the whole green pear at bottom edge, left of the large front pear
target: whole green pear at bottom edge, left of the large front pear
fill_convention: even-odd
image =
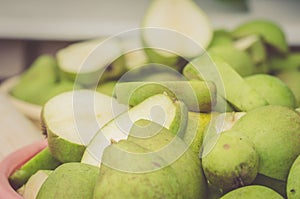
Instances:
[[[98,167],[78,162],[62,164],[48,176],[36,198],[92,198],[98,175]]]

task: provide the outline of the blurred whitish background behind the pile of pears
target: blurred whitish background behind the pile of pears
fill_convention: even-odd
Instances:
[[[300,46],[299,0],[195,0],[214,27],[252,18],[279,23]],[[42,53],[70,42],[138,28],[150,0],[0,0],[0,80],[18,74]]]

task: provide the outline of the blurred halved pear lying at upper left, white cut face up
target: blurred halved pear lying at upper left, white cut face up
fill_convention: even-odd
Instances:
[[[64,78],[96,87],[100,81],[117,78],[125,71],[121,55],[118,39],[94,39],[62,48],[56,58]]]

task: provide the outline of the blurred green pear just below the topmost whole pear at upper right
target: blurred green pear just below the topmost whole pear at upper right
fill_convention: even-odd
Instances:
[[[234,46],[215,46],[208,50],[208,53],[211,52],[223,58],[242,77],[254,73],[255,66],[251,57]]]

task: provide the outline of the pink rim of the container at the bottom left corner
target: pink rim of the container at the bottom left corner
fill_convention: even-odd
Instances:
[[[47,146],[47,140],[34,142],[6,156],[0,162],[0,198],[22,199],[9,184],[8,177]]]

